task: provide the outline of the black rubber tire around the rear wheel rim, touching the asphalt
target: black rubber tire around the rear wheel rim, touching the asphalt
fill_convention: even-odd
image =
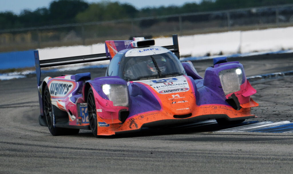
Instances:
[[[43,95],[43,108],[44,116],[49,128],[49,131],[52,135],[75,135],[79,133],[79,129],[69,129],[69,128],[57,128],[53,125],[53,108],[51,102],[51,95],[48,86],[45,87]]]

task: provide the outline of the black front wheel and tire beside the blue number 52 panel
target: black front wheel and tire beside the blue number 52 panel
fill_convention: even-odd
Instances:
[[[93,95],[93,90],[90,88],[88,90],[88,98],[87,98],[87,105],[88,105],[88,120],[90,122],[90,128],[93,132],[93,135],[98,138],[98,121],[97,121],[97,112],[96,112],[96,103],[95,97]]]

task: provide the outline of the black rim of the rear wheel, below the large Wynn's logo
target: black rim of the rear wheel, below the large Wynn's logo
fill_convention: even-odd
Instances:
[[[45,94],[44,94],[44,114],[46,116],[48,127],[51,129],[53,126],[53,112],[52,112],[51,96],[49,91],[47,90],[45,90]]]

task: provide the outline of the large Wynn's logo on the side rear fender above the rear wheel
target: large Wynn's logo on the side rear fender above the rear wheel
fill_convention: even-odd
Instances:
[[[72,88],[73,83],[66,81],[53,81],[49,86],[50,94],[54,97],[64,97]]]

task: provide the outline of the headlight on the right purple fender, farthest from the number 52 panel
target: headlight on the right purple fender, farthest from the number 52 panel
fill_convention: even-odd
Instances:
[[[219,78],[225,95],[240,91],[242,84],[242,69],[240,67],[220,71]]]

